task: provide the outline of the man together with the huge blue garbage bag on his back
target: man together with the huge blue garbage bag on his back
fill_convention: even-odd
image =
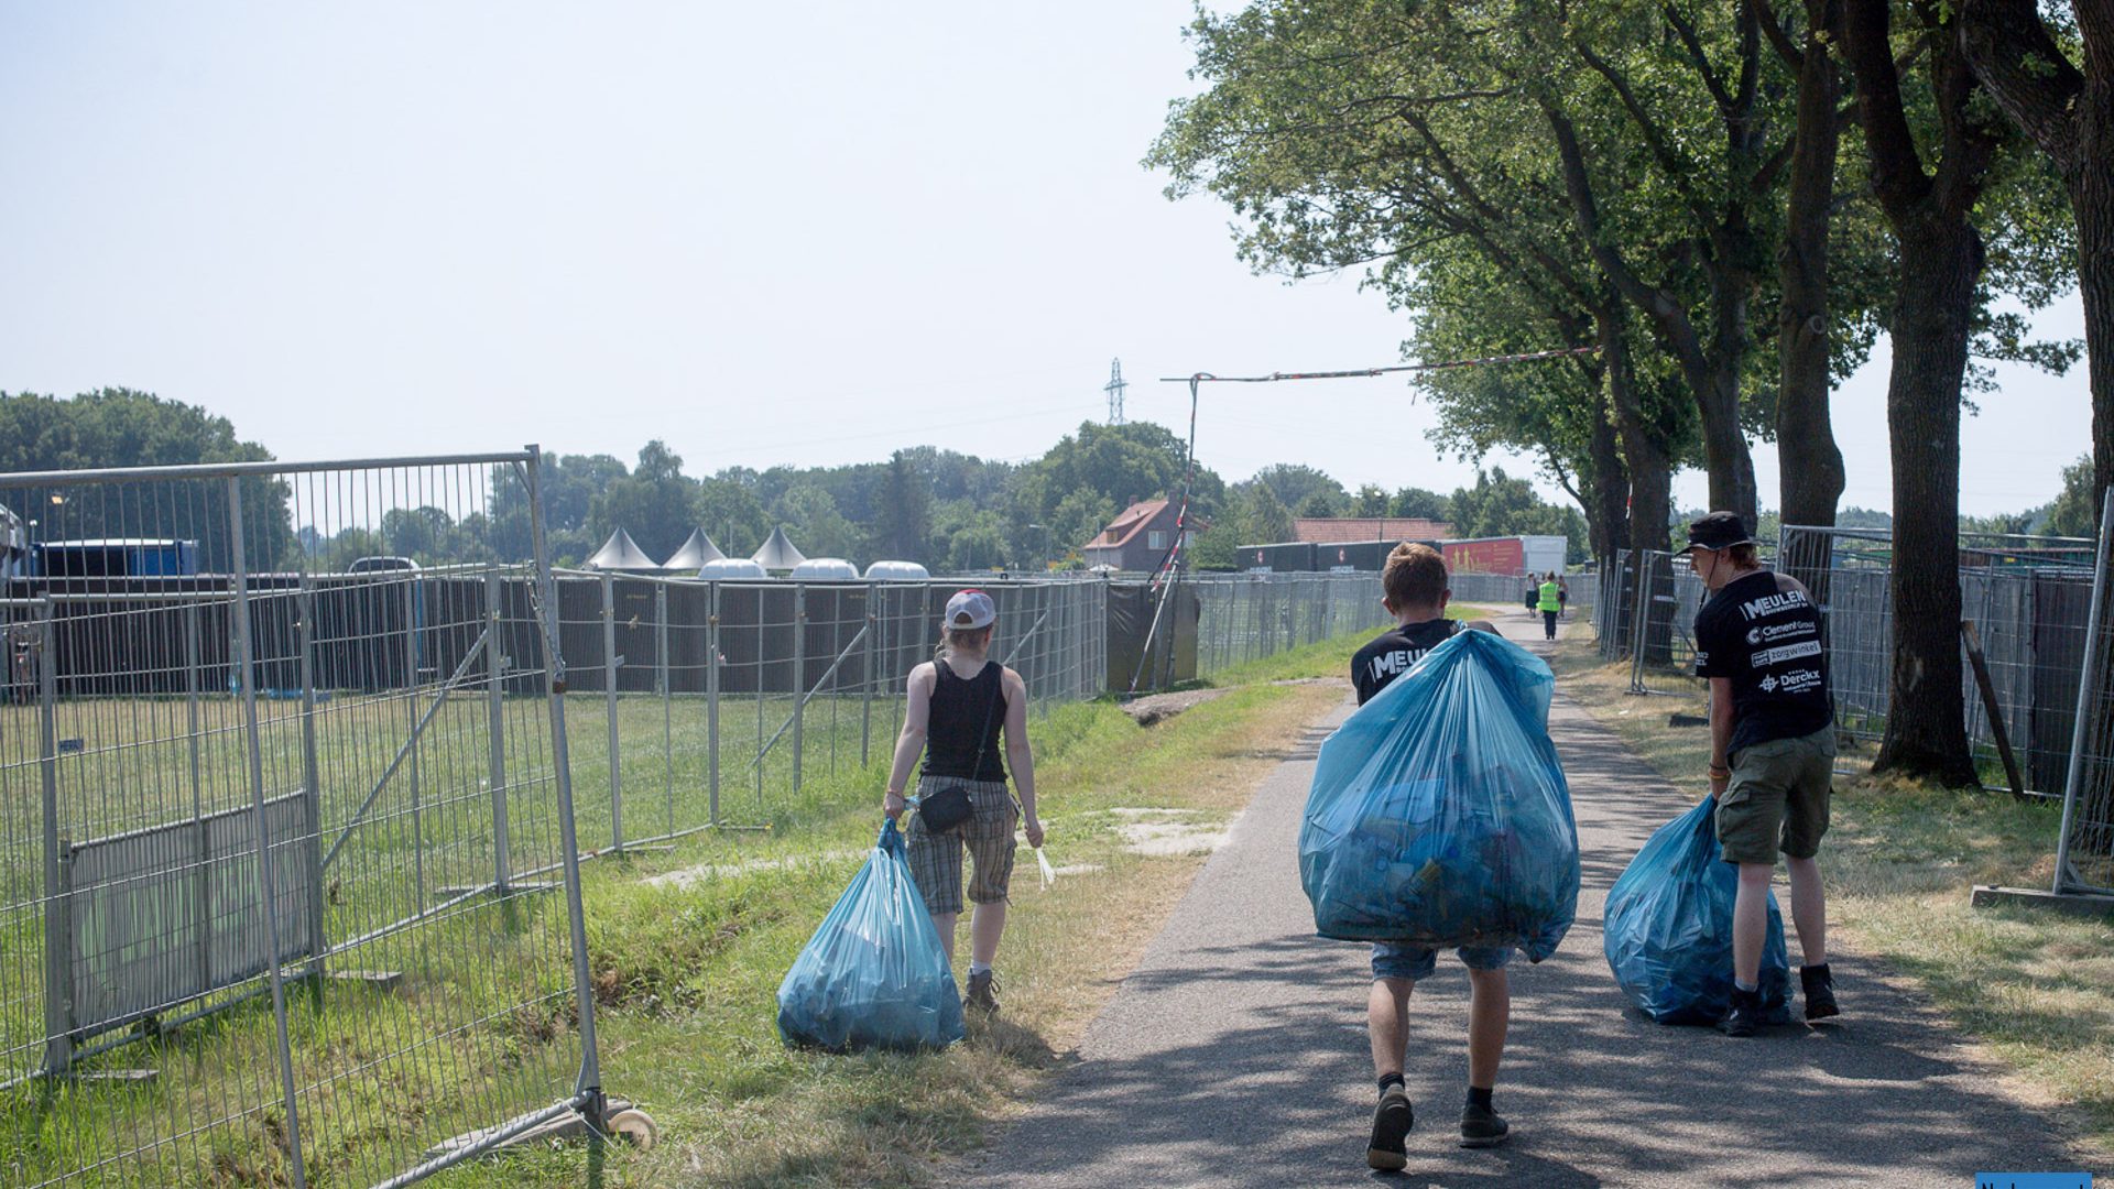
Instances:
[[[1446,620],[1446,563],[1397,546],[1380,575],[1397,626],[1357,652],[1359,711],[1315,766],[1300,880],[1323,937],[1372,941],[1366,1024],[1380,1100],[1366,1164],[1399,1170],[1414,1126],[1408,1005],[1440,948],[1469,967],[1469,1090],[1461,1145],[1509,1136],[1492,1109],[1512,1020],[1505,965],[1556,952],[1579,893],[1577,825],[1547,736],[1547,664]]]

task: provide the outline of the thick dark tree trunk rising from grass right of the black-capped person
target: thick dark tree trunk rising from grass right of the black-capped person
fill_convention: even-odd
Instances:
[[[1981,235],[1930,209],[1900,224],[1886,425],[1894,453],[1894,673],[1873,772],[1974,785],[1960,671],[1960,385]]]

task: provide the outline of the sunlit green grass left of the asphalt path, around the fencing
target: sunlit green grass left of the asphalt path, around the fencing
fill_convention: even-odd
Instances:
[[[1065,705],[1032,728],[1051,857],[1068,874],[1038,891],[1017,880],[1002,954],[1006,1013],[968,1045],[920,1058],[786,1051],[774,1032],[778,977],[863,861],[877,827],[882,764],[896,707],[818,698],[803,717],[803,781],[793,738],[759,768],[791,698],[721,707],[721,817],[729,825],[672,850],[602,855],[586,865],[592,980],[611,1094],[641,1100],[662,1126],[653,1153],[600,1153],[617,1185],[909,1183],[937,1155],[972,1145],[1034,1077],[1076,1043],[1099,999],[1135,961],[1201,855],[1125,848],[1114,810],[1163,810],[1209,831],[1321,707],[1334,685],[1273,683],[1342,673],[1357,639],[1281,652],[1216,677],[1228,694],[1142,730],[1114,705]],[[332,698],[315,724],[319,850],[347,834],[326,870],[326,937],[342,944],[461,884],[490,882],[490,705],[444,700],[416,749],[397,751],[431,702]],[[548,711],[501,702],[509,853],[516,878],[552,865],[554,785]],[[0,812],[8,889],[0,910],[0,1060],[42,1060],[42,764],[34,707],[0,707]],[[188,821],[249,800],[239,707],[201,698],[197,753],[184,698],[63,702],[57,764],[63,834],[99,838]],[[260,702],[268,793],[304,787],[298,702]],[[567,698],[583,848],[607,848],[609,732],[596,694]],[[617,700],[626,836],[710,819],[704,702]],[[666,734],[664,734],[666,732]],[[867,764],[860,764],[865,736]],[[383,772],[395,764],[389,781]],[[412,772],[416,770],[416,781]],[[192,776],[197,772],[197,776]],[[757,793],[761,785],[763,793]],[[416,800],[412,798],[416,789]],[[307,842],[300,842],[307,844]],[[708,874],[687,886],[647,876]],[[556,878],[556,876],[541,876]],[[359,1185],[416,1164],[448,1134],[564,1096],[577,1071],[562,899],[469,895],[412,929],[330,958],[357,980],[292,980],[292,1075],[313,1185]],[[104,1037],[110,1039],[110,1037]],[[93,1043],[93,1039],[85,1041]],[[0,1181],[74,1174],[91,1185],[283,1183],[288,1119],[268,1001],[144,1037],[80,1062],[87,1073],[154,1071],[152,1081],[19,1081],[0,1092]],[[575,1185],[588,1155],[518,1153],[450,1172],[457,1183]]]

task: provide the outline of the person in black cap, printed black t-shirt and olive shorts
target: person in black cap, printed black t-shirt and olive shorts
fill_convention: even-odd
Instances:
[[[1761,1028],[1761,948],[1776,853],[1791,867],[1791,922],[1805,965],[1805,1018],[1837,1016],[1820,836],[1835,779],[1835,705],[1820,609],[1799,580],[1772,573],[1736,512],[1689,525],[1689,561],[1710,588],[1695,614],[1695,675],[1710,681],[1710,795],[1727,863],[1740,865],[1731,910],[1727,1037]]]

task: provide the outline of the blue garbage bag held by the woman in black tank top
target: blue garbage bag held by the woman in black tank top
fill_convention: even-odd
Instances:
[[[962,1039],[962,994],[894,819],[778,984],[778,1035],[837,1051]]]

